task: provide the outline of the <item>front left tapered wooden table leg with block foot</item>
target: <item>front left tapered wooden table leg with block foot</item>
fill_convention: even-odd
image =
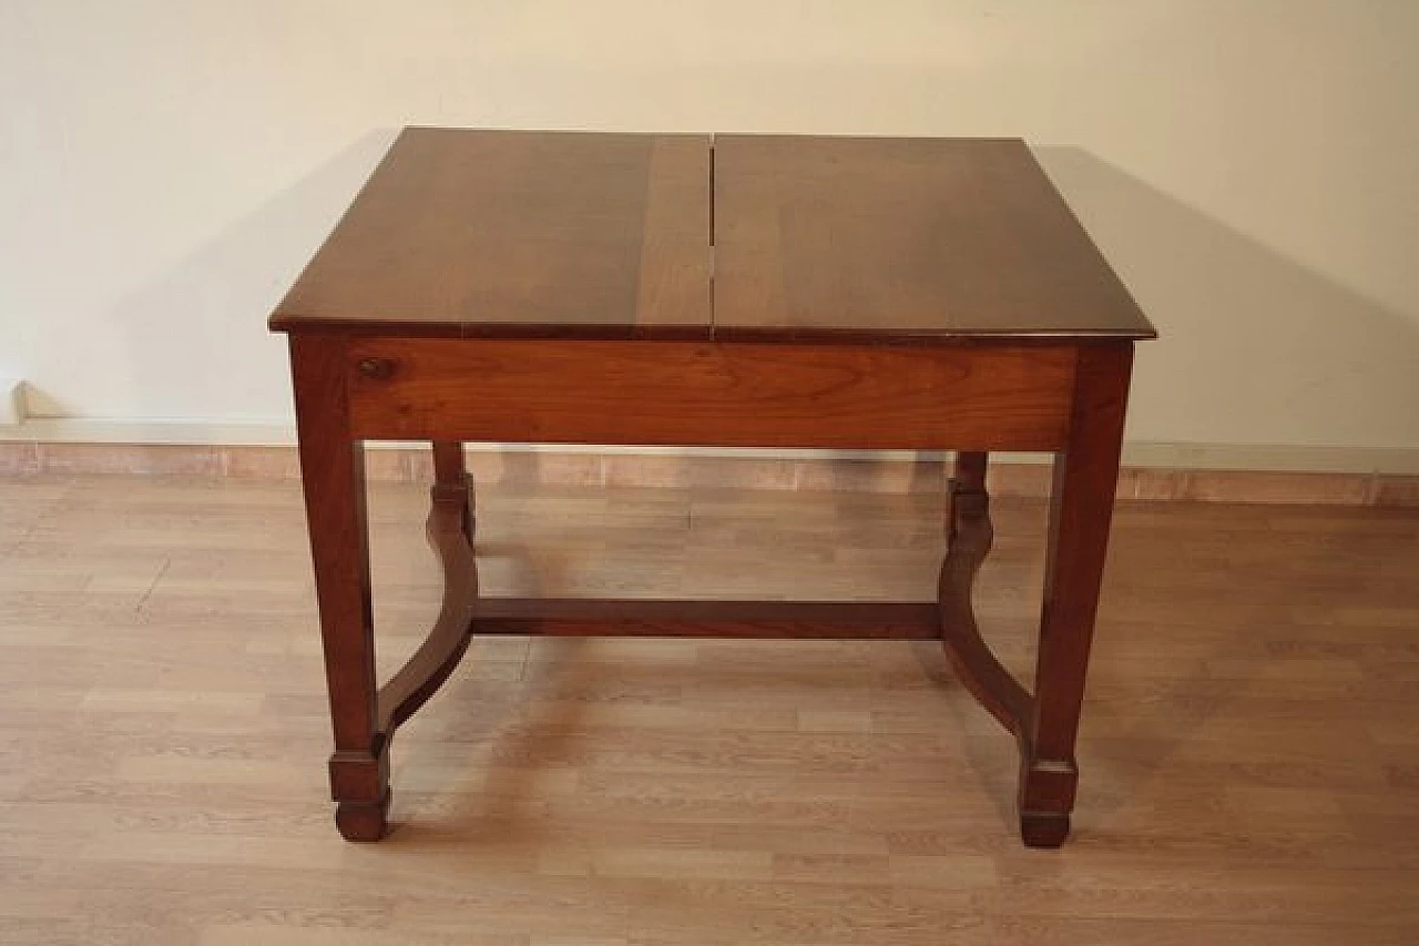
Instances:
[[[335,730],[335,824],[349,841],[377,841],[389,811],[389,740],[376,716],[365,452],[349,435],[345,341],[292,335],[291,371]]]

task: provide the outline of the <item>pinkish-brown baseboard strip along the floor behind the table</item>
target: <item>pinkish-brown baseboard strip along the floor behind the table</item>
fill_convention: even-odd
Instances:
[[[368,453],[369,477],[431,482],[427,449]],[[948,476],[935,459],[758,459],[624,452],[470,450],[468,469],[481,483],[548,486],[666,486],[874,493],[939,491]],[[295,479],[295,447],[0,442],[0,476],[112,473]],[[1042,463],[995,463],[996,496],[1040,497],[1050,470]],[[1419,476],[1125,466],[1120,499],[1205,503],[1298,503],[1419,509]]]

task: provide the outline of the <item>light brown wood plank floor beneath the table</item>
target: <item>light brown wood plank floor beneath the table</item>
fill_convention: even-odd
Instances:
[[[386,673],[437,612],[373,487]],[[485,591],[929,598],[941,500],[490,489]],[[978,588],[1030,663],[1043,507]],[[298,486],[0,479],[0,942],[1419,942],[1419,513],[1125,504],[1074,838],[928,643],[480,639],[342,842]]]

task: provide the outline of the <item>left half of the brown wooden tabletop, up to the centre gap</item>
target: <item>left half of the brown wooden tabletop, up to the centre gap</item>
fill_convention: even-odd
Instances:
[[[708,337],[710,139],[409,128],[280,331]]]

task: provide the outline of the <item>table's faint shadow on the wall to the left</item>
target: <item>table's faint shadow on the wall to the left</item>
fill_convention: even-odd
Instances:
[[[196,419],[228,405],[251,420],[291,416],[285,344],[267,332],[267,315],[396,134],[369,132],[119,303],[136,403]],[[143,371],[156,359],[160,371]]]

